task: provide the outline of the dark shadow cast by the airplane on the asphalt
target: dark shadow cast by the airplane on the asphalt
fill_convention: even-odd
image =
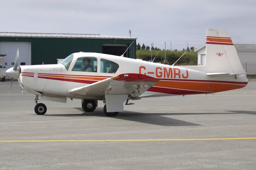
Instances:
[[[103,108],[98,107],[94,112],[86,113],[81,107],[74,107],[83,113],[81,114],[54,114],[54,115],[45,115],[45,116],[58,116],[58,117],[76,117],[76,116],[90,116],[90,117],[106,117],[102,112]],[[222,114],[240,114],[247,113],[256,115],[256,112],[252,111],[229,111],[232,113],[139,113],[132,111],[124,111],[119,113],[116,117],[108,117],[110,119],[122,119],[126,121],[134,121],[152,125],[160,126],[202,126],[195,123],[190,123],[186,121],[181,121],[178,119],[173,119],[166,116],[173,115],[222,115]]]

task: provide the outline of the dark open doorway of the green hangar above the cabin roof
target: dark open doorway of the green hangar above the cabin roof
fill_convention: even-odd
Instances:
[[[120,56],[126,51],[128,48],[128,44],[112,44],[112,43],[104,43],[102,44],[102,53],[117,55]],[[129,50],[124,53],[124,57],[129,57]]]

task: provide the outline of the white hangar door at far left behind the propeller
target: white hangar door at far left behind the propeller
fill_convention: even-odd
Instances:
[[[0,54],[6,54],[5,56],[6,69],[13,67],[17,49],[19,49],[19,54],[20,54],[18,65],[31,65],[31,43],[30,42],[0,42]]]

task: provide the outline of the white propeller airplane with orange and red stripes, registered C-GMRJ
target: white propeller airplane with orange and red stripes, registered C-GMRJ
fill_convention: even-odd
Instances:
[[[18,79],[22,93],[36,95],[34,111],[44,115],[38,100],[66,103],[81,99],[82,109],[93,112],[103,101],[107,116],[124,111],[129,100],[145,97],[217,93],[245,87],[246,73],[227,30],[206,30],[205,65],[175,66],[102,53],[78,52],[59,64],[18,66],[6,74]],[[12,84],[12,83],[11,83]]]

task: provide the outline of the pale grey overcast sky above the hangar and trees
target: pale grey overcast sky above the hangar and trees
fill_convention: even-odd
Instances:
[[[204,41],[206,28],[256,43],[255,0],[3,0],[0,32],[136,37],[137,42]]]

